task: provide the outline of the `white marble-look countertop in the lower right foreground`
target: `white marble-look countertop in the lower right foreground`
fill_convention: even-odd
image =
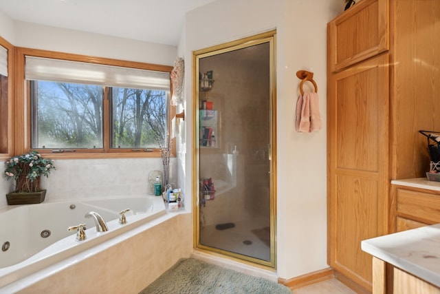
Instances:
[[[362,250],[440,287],[440,224],[361,242]]]

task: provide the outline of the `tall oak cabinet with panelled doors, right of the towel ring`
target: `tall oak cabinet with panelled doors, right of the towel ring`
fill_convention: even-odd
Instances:
[[[438,0],[362,0],[327,26],[327,256],[361,290],[360,241],[425,223],[397,216],[390,182],[429,167],[417,131],[440,130],[439,21]]]

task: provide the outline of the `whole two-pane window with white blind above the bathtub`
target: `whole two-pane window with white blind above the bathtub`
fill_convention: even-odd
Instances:
[[[47,58],[43,53],[23,52],[30,149],[54,154],[159,154],[173,112],[172,67],[114,66],[108,59],[104,64],[96,63],[96,58],[87,63]]]

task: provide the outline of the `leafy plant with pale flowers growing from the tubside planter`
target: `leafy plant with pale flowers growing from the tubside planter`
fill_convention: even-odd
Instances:
[[[40,177],[49,177],[56,169],[54,160],[41,157],[37,151],[12,156],[5,162],[5,177],[16,181],[16,192],[40,191]]]

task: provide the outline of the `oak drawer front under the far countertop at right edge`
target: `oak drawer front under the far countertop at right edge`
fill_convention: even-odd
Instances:
[[[397,189],[397,215],[426,224],[440,222],[440,196]]]

